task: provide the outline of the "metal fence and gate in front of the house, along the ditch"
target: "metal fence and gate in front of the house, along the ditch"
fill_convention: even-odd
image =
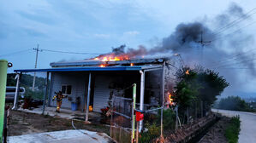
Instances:
[[[112,98],[110,137],[120,143],[161,142],[168,137],[181,140],[174,134],[183,134],[182,130],[200,121],[199,118],[205,117],[210,109],[206,102],[195,100],[194,104],[188,107],[166,103],[169,105],[144,106],[144,111],[140,111],[140,104],[135,104],[136,93],[134,95],[133,99],[124,98],[122,95],[114,95]],[[135,116],[138,116],[136,112],[144,115],[142,121],[135,121]],[[189,132],[193,132],[193,129]]]

